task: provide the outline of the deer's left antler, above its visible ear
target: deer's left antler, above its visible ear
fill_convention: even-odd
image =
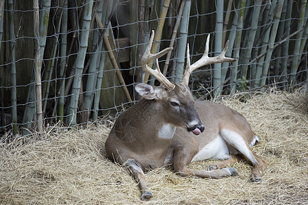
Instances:
[[[154,31],[152,31],[151,34],[151,38],[149,41],[148,46],[146,47],[146,51],[144,52],[144,54],[142,55],[141,58],[141,67],[143,68],[144,71],[149,72],[149,74],[151,74],[155,79],[157,79],[157,81],[159,81],[160,83],[162,83],[162,85],[164,85],[166,87],[166,89],[168,91],[171,91],[175,88],[175,85],[172,84],[165,76],[164,74],[162,74],[162,72],[160,72],[159,69],[159,65],[158,65],[158,58],[162,57],[163,55],[165,55],[166,53],[168,53],[169,51],[171,51],[173,48],[167,48],[164,49],[163,51],[160,51],[159,53],[155,53],[152,54],[151,53],[151,48],[152,48],[152,44],[153,44],[153,40],[154,40]],[[147,65],[147,63],[149,61],[153,61],[156,59],[156,69],[152,69],[150,66]]]

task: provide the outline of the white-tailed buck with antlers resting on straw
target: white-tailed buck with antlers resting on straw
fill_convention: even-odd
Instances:
[[[149,61],[172,49],[151,54],[153,38],[152,31],[149,45],[142,56],[142,68],[162,83],[162,86],[144,83],[136,85],[135,89],[142,99],[121,113],[114,123],[105,142],[109,158],[130,170],[139,184],[142,200],[153,197],[146,187],[144,172],[164,165],[172,165],[174,171],[181,176],[221,178],[237,175],[236,170],[229,166],[245,156],[254,165],[253,182],[261,180],[266,162],[250,148],[259,139],[251,131],[247,120],[224,105],[209,101],[194,102],[188,88],[190,74],[197,68],[235,61],[224,57],[228,42],[218,57],[208,57],[208,36],[203,57],[192,65],[188,50],[183,82],[173,84],[159,71],[157,61],[156,70],[147,65]],[[192,161],[205,159],[225,161],[210,165],[209,171],[187,167]]]

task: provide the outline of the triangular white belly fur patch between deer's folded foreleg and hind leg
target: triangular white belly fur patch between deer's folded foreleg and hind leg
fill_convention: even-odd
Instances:
[[[192,162],[206,159],[230,159],[228,146],[220,135],[199,150],[192,158]]]

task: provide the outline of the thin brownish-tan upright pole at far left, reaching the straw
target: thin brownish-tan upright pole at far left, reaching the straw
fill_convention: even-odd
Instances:
[[[39,7],[38,0],[33,1],[34,6],[34,69],[36,73],[36,115],[38,119],[38,133],[43,131],[43,119],[42,119],[42,82],[40,80],[40,69],[41,69],[41,57],[40,57],[40,22],[39,22]]]

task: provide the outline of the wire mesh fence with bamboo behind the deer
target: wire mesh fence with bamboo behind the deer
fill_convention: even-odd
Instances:
[[[187,44],[195,62],[208,35],[210,56],[229,40],[226,56],[237,61],[196,70],[196,98],[307,87],[307,0],[3,0],[0,7],[1,134],[29,135],[38,122],[86,124],[129,107],[136,83],[159,85],[140,67],[151,30],[153,53],[174,48],[159,59],[174,83]]]

